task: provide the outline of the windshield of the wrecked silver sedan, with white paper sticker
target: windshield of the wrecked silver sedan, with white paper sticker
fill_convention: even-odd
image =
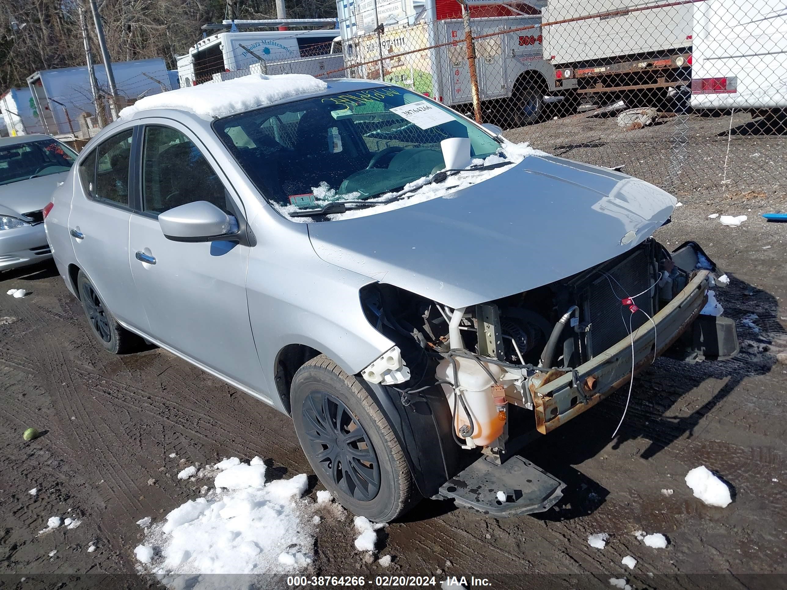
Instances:
[[[445,168],[440,142],[468,138],[471,157],[500,149],[449,109],[397,87],[264,107],[214,128],[260,193],[279,207],[364,201]]]

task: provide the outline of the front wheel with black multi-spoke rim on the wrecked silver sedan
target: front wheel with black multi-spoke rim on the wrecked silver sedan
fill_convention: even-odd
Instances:
[[[420,500],[390,424],[360,382],[327,356],[297,370],[290,403],[309,464],[347,510],[372,522],[390,522]],[[338,441],[338,433],[355,434],[351,441]]]

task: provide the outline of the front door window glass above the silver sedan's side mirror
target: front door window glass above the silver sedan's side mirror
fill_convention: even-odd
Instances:
[[[142,149],[142,207],[163,213],[194,201],[208,201],[234,215],[229,195],[197,146],[172,127],[145,127]]]

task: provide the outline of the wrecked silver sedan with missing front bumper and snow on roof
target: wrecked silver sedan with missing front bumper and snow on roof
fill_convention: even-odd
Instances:
[[[667,348],[737,352],[726,275],[652,238],[663,190],[401,87],[306,78],[142,99],[46,232],[107,351],[145,339],[286,412],[349,511],[545,511],[564,485],[523,444],[631,396]]]

